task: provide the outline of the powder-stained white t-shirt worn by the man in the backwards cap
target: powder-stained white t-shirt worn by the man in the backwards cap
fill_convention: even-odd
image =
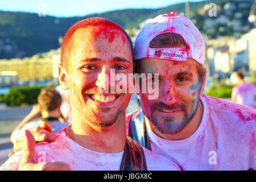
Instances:
[[[160,138],[146,119],[152,151],[172,159],[183,170],[256,169],[256,111],[204,94],[200,99],[202,121],[186,139]]]

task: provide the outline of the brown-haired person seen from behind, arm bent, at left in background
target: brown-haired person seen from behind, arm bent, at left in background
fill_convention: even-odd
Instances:
[[[68,126],[60,112],[61,96],[53,88],[43,88],[38,96],[38,104],[32,107],[31,112],[14,129],[10,140],[15,143],[26,129],[40,126],[40,123],[47,122],[52,126],[52,133],[56,133]]]

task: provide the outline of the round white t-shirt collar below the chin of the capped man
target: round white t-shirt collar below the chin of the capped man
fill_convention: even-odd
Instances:
[[[147,130],[148,130],[148,137],[150,138],[150,141],[157,144],[159,147],[172,147],[172,148],[178,148],[178,147],[183,147],[186,146],[189,143],[192,143],[193,141],[195,141],[197,139],[197,137],[199,137],[199,135],[201,135],[205,129],[205,126],[207,126],[207,122],[208,122],[208,116],[209,116],[209,110],[206,104],[206,101],[203,98],[204,96],[200,96],[200,100],[203,103],[203,107],[204,107],[204,112],[203,112],[203,117],[202,117],[202,121],[199,125],[199,127],[197,128],[197,130],[195,131],[195,133],[193,133],[190,137],[182,139],[182,140],[166,140],[163,138],[158,137],[151,129],[150,124],[148,122],[147,117],[145,116],[145,120],[146,120],[146,126],[147,126]]]

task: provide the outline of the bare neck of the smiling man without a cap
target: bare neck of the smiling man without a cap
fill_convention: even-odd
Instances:
[[[72,125],[65,130],[68,137],[89,150],[104,153],[123,151],[126,141],[125,111],[119,115],[114,125],[101,127],[79,117],[81,114],[74,110],[72,109]]]

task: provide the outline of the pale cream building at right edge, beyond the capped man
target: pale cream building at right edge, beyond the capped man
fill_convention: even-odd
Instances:
[[[205,44],[211,76],[216,72],[256,72],[256,28],[242,35],[240,39],[222,36],[207,40]]]

